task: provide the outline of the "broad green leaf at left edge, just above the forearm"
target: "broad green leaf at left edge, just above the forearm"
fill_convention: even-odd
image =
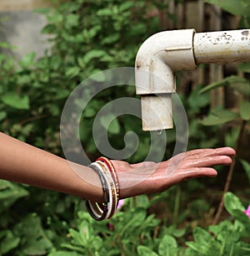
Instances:
[[[9,92],[6,95],[2,95],[2,102],[18,110],[29,109],[28,95],[18,95],[15,92]]]

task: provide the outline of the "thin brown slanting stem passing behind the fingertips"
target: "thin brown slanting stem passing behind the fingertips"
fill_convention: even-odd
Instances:
[[[235,148],[236,152],[238,152],[238,150],[239,150],[240,141],[242,141],[243,132],[245,130],[246,124],[247,124],[247,121],[243,120],[242,124],[240,126],[240,131],[239,131],[239,134],[238,134],[238,138],[237,138],[237,141],[236,141],[236,148]],[[219,218],[221,217],[221,215],[223,213],[224,197],[225,197],[225,194],[228,192],[228,189],[230,187],[230,183],[232,181],[233,170],[234,170],[235,163],[236,163],[236,156],[233,156],[233,163],[232,163],[232,165],[229,168],[227,182],[226,182],[224,190],[223,190],[223,196],[221,198],[221,202],[219,203],[219,206],[218,206],[218,211],[217,211],[217,213],[215,215],[215,218],[213,219],[213,225],[216,225],[218,223]]]

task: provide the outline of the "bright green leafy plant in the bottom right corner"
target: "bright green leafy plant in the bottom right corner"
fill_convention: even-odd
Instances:
[[[225,195],[225,207],[233,216],[234,221],[225,220],[207,230],[195,228],[194,242],[187,242],[188,250],[184,255],[248,255],[248,237],[250,219],[243,212],[245,207],[239,198],[228,192]]]

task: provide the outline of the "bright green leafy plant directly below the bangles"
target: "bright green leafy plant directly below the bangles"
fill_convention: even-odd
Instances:
[[[70,240],[62,243],[62,248],[79,255],[135,255],[138,243],[154,247],[152,233],[160,220],[148,215],[148,206],[146,196],[138,197],[137,205],[133,199],[128,200],[123,206],[126,212],[117,212],[111,220],[103,222],[94,221],[87,212],[78,212],[78,228],[69,230]],[[65,251],[49,255],[57,253],[64,255]]]

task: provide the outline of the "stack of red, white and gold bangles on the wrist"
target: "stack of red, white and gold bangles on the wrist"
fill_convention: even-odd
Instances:
[[[115,168],[112,162],[104,156],[97,158],[97,161],[92,162],[88,167],[97,172],[100,177],[104,202],[100,205],[100,203],[87,200],[87,212],[97,221],[112,218],[120,197],[119,182]]]

